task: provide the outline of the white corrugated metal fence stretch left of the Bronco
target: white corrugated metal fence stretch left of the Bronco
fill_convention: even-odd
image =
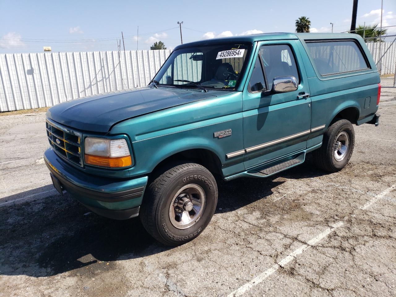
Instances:
[[[146,86],[170,49],[0,54],[0,111]]]

